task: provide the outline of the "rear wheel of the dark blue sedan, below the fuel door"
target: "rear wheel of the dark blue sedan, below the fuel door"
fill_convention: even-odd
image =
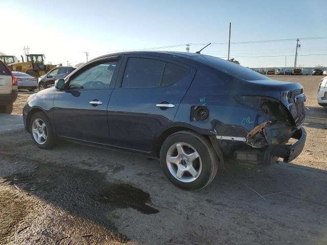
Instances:
[[[174,133],[161,146],[161,168],[166,177],[182,189],[198,190],[211,183],[218,163],[211,143],[192,131]]]

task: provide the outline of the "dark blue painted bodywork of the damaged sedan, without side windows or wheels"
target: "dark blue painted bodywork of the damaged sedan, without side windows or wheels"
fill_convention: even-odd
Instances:
[[[166,87],[122,88],[130,57],[178,64],[189,72]],[[207,135],[212,142],[217,140],[217,145],[213,145],[226,156],[232,157],[231,150],[260,151],[262,161],[267,161],[266,152],[288,159],[290,154],[286,156],[281,147],[275,149],[275,145],[285,144],[290,137],[305,135],[298,133],[303,130],[301,126],[305,120],[305,95],[300,84],[270,80],[258,72],[215,57],[174,52],[107,55],[76,69],[65,78],[65,83],[92,63],[106,59],[119,60],[110,88],[49,88],[38,92],[24,108],[26,129],[29,129],[31,112],[42,110],[58,137],[151,156],[158,155],[162,135],[174,129],[190,129]],[[103,104],[90,105],[94,100]],[[156,104],[160,103],[174,107],[158,108]],[[199,108],[206,110],[206,118],[197,118]],[[232,137],[240,140],[230,140]],[[303,147],[304,141],[302,139],[297,147]]]

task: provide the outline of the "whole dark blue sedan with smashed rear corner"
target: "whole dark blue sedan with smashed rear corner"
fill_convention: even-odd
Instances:
[[[41,149],[61,138],[150,155],[173,184],[200,189],[226,159],[294,160],[306,140],[305,100],[298,83],[217,57],[125,52],[93,59],[32,94],[23,118]]]

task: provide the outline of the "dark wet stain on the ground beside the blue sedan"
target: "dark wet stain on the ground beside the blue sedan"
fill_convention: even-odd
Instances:
[[[158,209],[146,204],[151,202],[149,193],[129,184],[105,181],[105,174],[94,170],[42,165],[29,175],[16,174],[5,179],[22,189],[41,195],[47,201],[50,199],[65,205],[66,208],[75,203],[77,200],[74,200],[74,197],[77,197],[94,200],[105,205],[107,209],[133,208],[144,214],[159,212]],[[61,197],[61,201],[57,199],[58,196]],[[69,198],[63,199],[65,196]],[[66,203],[62,204],[64,200]],[[75,206],[76,203],[73,204],[74,210],[71,211],[76,211]]]

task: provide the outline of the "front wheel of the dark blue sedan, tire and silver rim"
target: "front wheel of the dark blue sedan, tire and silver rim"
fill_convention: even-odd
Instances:
[[[30,133],[34,143],[41,149],[50,149],[55,144],[52,125],[43,112],[39,111],[32,115]]]

